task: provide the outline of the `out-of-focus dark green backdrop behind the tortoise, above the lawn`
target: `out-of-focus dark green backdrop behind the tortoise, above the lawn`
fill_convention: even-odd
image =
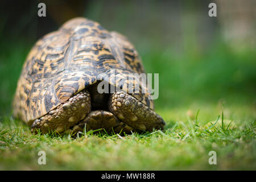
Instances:
[[[41,2],[41,1],[40,1]],[[3,2],[0,16],[0,114],[9,114],[33,44],[75,16],[126,35],[148,73],[159,73],[156,109],[193,104],[249,104],[255,109],[255,1]],[[243,4],[241,6],[240,4]]]

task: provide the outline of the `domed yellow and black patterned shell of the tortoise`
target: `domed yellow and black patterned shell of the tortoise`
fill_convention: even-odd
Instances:
[[[127,92],[129,73],[144,73],[144,68],[125,36],[86,18],[71,19],[38,40],[28,53],[14,96],[14,115],[30,125],[100,80]],[[131,94],[154,110],[150,94],[141,92],[142,84],[134,80],[133,85],[139,85],[140,92]]]

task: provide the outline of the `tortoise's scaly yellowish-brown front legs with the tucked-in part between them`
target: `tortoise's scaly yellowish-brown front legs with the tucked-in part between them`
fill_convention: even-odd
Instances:
[[[87,90],[82,90],[64,104],[36,119],[31,125],[31,132],[37,133],[40,129],[43,134],[52,131],[74,134],[84,131],[86,127],[86,131],[105,129],[107,133],[114,131],[131,134],[132,131],[140,133],[163,129],[165,125],[162,117],[154,110],[124,91],[115,92],[110,95],[108,103],[102,104],[108,104],[109,111],[90,111],[90,94]]]

